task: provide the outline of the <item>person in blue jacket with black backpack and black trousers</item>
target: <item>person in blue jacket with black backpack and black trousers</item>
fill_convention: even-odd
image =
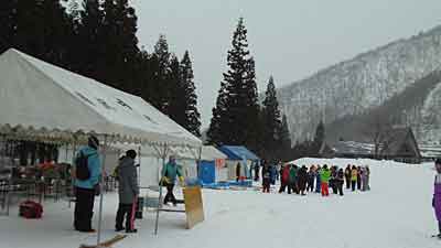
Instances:
[[[88,138],[88,145],[77,152],[75,165],[75,214],[74,227],[82,233],[95,233],[92,228],[96,188],[101,176],[98,154],[99,140],[95,136]]]

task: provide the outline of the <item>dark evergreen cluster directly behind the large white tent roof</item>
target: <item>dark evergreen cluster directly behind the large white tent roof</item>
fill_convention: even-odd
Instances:
[[[201,136],[190,52],[139,47],[128,0],[8,0],[0,6],[0,52],[10,47],[142,97]]]

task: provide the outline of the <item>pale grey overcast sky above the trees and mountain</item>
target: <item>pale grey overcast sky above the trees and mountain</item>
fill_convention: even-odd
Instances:
[[[140,44],[159,34],[193,60],[203,127],[209,125],[239,17],[248,29],[259,91],[441,24],[441,0],[132,0]]]

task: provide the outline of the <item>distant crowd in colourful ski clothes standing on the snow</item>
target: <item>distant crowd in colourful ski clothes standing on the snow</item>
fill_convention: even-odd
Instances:
[[[262,164],[262,191],[270,192],[270,185],[275,185],[280,179],[279,193],[288,190],[288,194],[295,193],[306,195],[306,192],[330,195],[330,187],[334,194],[344,195],[343,187],[352,191],[369,191],[369,166],[355,166],[348,164],[346,169],[338,166],[311,165],[310,168],[295,164],[277,165]]]

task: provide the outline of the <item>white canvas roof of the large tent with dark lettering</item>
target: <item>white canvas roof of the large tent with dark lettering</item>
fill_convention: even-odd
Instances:
[[[1,126],[96,132],[122,141],[202,145],[200,139],[140,97],[17,50],[0,56]]]

